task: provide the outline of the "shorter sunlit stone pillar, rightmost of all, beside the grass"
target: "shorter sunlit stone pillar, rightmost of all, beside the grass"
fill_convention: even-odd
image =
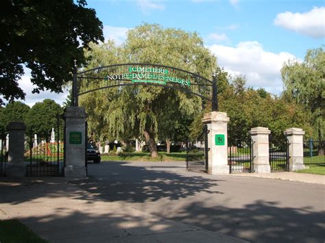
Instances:
[[[304,169],[304,131],[293,127],[284,133],[289,142],[289,171]]]

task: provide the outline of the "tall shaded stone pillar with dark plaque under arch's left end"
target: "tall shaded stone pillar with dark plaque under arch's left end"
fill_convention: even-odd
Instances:
[[[85,178],[86,174],[86,114],[84,107],[70,106],[64,110],[65,168],[64,176]]]

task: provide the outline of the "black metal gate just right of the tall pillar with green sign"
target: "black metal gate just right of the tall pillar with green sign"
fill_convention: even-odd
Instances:
[[[228,146],[228,164],[230,173],[254,172],[253,142],[251,138],[246,140],[230,140]]]

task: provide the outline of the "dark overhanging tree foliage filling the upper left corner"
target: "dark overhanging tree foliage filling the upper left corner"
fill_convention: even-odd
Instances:
[[[73,60],[84,64],[88,43],[104,40],[95,10],[85,6],[85,0],[1,1],[0,94],[4,99],[25,98],[18,85],[23,65],[32,70],[34,92],[62,92],[62,85],[71,80]]]

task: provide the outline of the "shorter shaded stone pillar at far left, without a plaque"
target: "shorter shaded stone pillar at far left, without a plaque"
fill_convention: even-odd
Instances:
[[[11,122],[7,129],[9,132],[9,151],[6,174],[8,177],[25,177],[25,123]]]

